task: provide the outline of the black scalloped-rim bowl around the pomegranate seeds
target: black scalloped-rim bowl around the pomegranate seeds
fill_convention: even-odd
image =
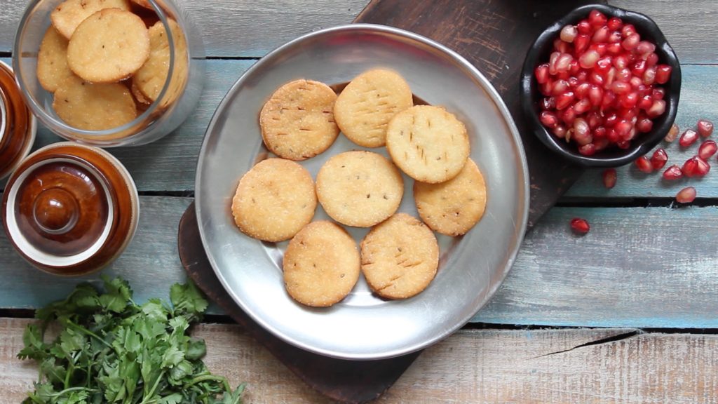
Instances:
[[[666,100],[666,111],[663,112],[661,116],[653,119],[653,129],[651,132],[638,134],[630,141],[630,147],[628,147],[628,149],[611,146],[605,150],[596,152],[595,155],[584,156],[578,152],[575,142],[569,143],[557,138],[538,120],[538,114],[541,112],[538,101],[540,101],[543,96],[538,89],[533,72],[536,66],[541,63],[548,63],[549,55],[554,45],[553,42],[559,37],[561,28],[567,24],[577,24],[580,20],[587,18],[589,12],[594,9],[602,12],[608,18],[618,17],[623,19],[625,23],[633,24],[641,40],[648,40],[656,44],[655,52],[658,55],[658,63],[670,65],[673,71],[671,72],[671,78],[668,80],[668,83],[661,85],[666,89],[666,96],[663,98]],[[652,19],[643,14],[629,12],[603,4],[581,6],[546,28],[546,30],[538,36],[536,42],[533,42],[531,49],[528,50],[526,60],[523,63],[523,69],[521,70],[521,108],[533,132],[536,133],[538,139],[541,139],[541,142],[544,142],[549,149],[572,162],[586,167],[617,167],[619,165],[625,165],[653,149],[653,147],[666,136],[668,129],[670,129],[673,124],[673,120],[676,119],[680,96],[681,65],[676,57],[676,53],[673,52],[673,48],[671,48],[671,45],[668,45],[668,41],[666,41],[666,37],[663,36],[661,29],[658,29],[656,22],[653,22]]]

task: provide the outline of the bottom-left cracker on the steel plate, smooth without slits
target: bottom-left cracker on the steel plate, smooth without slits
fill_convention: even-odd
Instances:
[[[332,306],[359,279],[359,251],[341,226],[314,221],[289,242],[282,267],[284,287],[294,300],[307,306]]]

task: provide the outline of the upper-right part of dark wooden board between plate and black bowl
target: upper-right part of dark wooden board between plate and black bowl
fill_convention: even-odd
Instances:
[[[592,1],[598,3],[600,1]],[[390,25],[458,52],[491,81],[516,121],[531,177],[528,226],[554,206],[583,169],[556,157],[528,130],[518,98],[526,51],[546,27],[589,1],[373,0],[354,22]]]

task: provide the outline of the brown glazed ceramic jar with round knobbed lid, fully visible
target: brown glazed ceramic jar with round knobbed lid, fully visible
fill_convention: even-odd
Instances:
[[[55,275],[85,275],[129,244],[139,198],[125,167],[108,152],[60,142],[17,167],[1,213],[8,239],[25,260]]]

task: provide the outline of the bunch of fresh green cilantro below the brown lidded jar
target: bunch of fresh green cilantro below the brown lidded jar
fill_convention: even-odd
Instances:
[[[187,336],[207,308],[195,285],[172,285],[168,306],[134,303],[120,277],[103,282],[104,293],[83,283],[36,312],[42,323],[27,326],[18,357],[39,362],[39,380],[23,403],[241,403],[244,385],[232,390],[212,375],[201,360],[205,341]],[[47,344],[52,321],[60,334]]]

